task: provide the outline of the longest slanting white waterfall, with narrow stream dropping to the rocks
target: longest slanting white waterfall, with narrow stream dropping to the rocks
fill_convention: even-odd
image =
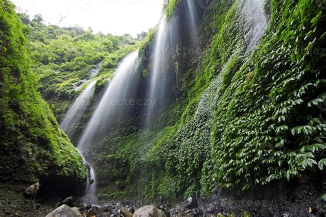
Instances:
[[[115,115],[115,111],[120,111],[120,108],[117,106],[121,106],[119,101],[126,99],[127,89],[132,77],[131,75],[135,71],[137,60],[138,52],[132,52],[122,60],[116,70],[109,87],[107,87],[105,94],[100,100],[100,104],[78,142],[78,150],[80,150],[84,157],[87,157],[87,153],[85,152],[87,152],[87,148],[94,143],[95,137],[105,135],[105,132],[102,133],[101,130],[109,123],[110,117]],[[85,191],[84,199],[88,203],[96,203],[96,174],[91,164],[86,160],[85,163],[89,166],[89,181],[87,182],[88,186]]]

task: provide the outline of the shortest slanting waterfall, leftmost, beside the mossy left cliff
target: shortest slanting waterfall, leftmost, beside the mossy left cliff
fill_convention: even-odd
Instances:
[[[76,130],[76,125],[80,123],[80,120],[83,117],[83,114],[90,106],[91,96],[94,93],[96,81],[90,82],[85,90],[76,98],[69,111],[65,115],[63,121],[60,124],[60,127],[65,133],[72,137]]]

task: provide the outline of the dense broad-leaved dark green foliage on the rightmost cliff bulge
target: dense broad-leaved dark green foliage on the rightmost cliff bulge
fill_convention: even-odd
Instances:
[[[270,25],[215,111],[213,165],[223,187],[265,185],[323,170],[325,15],[311,1],[272,1]],[[277,14],[275,13],[277,12]]]

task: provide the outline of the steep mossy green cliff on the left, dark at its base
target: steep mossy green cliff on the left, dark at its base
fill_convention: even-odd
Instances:
[[[44,192],[81,193],[86,181],[82,157],[37,91],[23,28],[12,3],[1,0],[0,181],[39,181]]]

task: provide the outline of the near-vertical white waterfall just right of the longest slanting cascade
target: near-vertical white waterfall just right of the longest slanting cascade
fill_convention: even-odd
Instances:
[[[155,103],[155,107],[162,103],[164,100],[165,87],[162,84],[162,66],[166,61],[166,19],[165,16],[162,17],[160,24],[158,25],[157,35],[155,38],[154,54],[153,54],[153,67],[150,71],[149,78],[149,91],[147,95],[149,96],[149,101]],[[151,117],[153,111],[157,108],[149,107],[146,111],[146,126],[150,126]]]

